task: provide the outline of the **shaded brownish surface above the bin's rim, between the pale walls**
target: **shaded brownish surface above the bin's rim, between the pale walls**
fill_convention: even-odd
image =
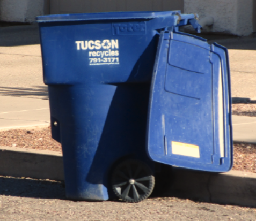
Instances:
[[[45,0],[45,14],[181,10],[184,0]]]

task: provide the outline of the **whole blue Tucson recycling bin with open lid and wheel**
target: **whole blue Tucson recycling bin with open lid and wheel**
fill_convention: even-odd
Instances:
[[[180,33],[179,11],[37,18],[68,199],[147,198],[156,162],[232,166],[228,52]]]

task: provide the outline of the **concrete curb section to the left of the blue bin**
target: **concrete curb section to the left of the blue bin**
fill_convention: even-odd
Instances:
[[[0,146],[0,174],[64,180],[62,154],[56,151]]]

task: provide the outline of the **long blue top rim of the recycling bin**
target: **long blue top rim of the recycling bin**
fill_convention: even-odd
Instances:
[[[180,10],[50,14],[47,16],[36,17],[36,22],[116,20],[116,19],[153,19],[158,17],[175,16],[175,14],[177,13],[180,13]]]

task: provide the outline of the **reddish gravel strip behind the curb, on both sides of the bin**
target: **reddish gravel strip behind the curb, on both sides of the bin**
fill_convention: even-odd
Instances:
[[[0,146],[53,150],[62,152],[61,144],[52,139],[50,127],[12,129],[0,132]],[[246,160],[245,160],[246,159]],[[256,144],[234,144],[234,170],[256,173]]]

